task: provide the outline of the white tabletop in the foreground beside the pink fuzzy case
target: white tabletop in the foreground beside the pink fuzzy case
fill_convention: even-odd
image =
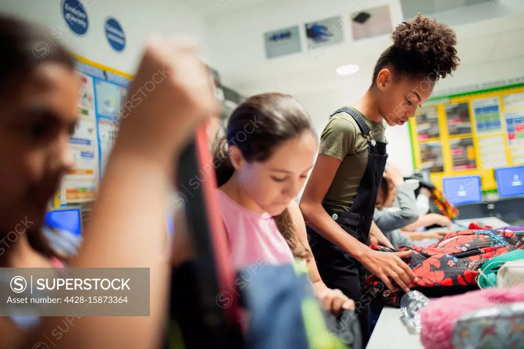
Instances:
[[[400,309],[384,307],[366,349],[423,349],[420,336],[405,323]]]

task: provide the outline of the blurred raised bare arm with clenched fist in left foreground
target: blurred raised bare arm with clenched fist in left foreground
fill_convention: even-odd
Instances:
[[[151,81],[155,89],[140,94]],[[74,326],[60,339],[61,349],[158,348],[165,335],[170,270],[165,212],[176,173],[173,160],[195,127],[216,111],[216,101],[194,47],[158,40],[146,48],[124,105],[132,107],[71,266],[149,268],[150,316],[74,318]],[[23,348],[47,343],[47,336],[63,323],[63,318],[43,318]]]

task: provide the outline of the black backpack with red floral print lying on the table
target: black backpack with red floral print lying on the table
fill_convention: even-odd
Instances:
[[[425,248],[370,247],[384,252],[413,250],[408,258],[403,259],[419,278],[416,285],[412,283],[411,289],[419,290],[428,297],[441,297],[478,288],[475,281],[478,268],[493,257],[524,249],[524,232],[465,230],[451,232],[440,242]],[[367,278],[364,292],[394,307],[399,307],[400,298],[405,293],[398,287],[390,291],[375,275]]]

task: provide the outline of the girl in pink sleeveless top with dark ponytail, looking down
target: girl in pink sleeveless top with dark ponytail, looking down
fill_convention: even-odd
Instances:
[[[354,303],[322,282],[294,201],[317,147],[300,103],[289,95],[260,94],[233,112],[214,162],[233,266],[255,269],[302,258],[324,308],[337,313]]]

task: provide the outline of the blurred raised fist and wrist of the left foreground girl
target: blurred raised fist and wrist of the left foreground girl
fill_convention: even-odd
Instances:
[[[192,42],[151,39],[121,109],[115,150],[171,166],[195,128],[217,111],[211,74]]]

